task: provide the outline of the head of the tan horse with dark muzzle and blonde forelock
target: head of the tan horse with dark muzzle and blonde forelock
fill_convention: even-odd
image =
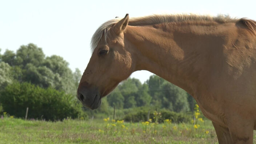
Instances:
[[[91,109],[98,108],[101,98],[127,79],[134,69],[129,46],[124,44],[129,16],[115,21],[104,23],[93,35],[92,56],[77,89],[78,99]]]

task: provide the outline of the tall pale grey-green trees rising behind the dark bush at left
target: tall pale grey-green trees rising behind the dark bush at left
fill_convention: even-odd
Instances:
[[[16,53],[6,50],[1,60],[12,67],[13,79],[16,81],[29,82],[42,88],[52,87],[76,95],[81,78],[79,69],[72,73],[68,62],[60,56],[45,58],[43,50],[35,44],[21,45]]]

